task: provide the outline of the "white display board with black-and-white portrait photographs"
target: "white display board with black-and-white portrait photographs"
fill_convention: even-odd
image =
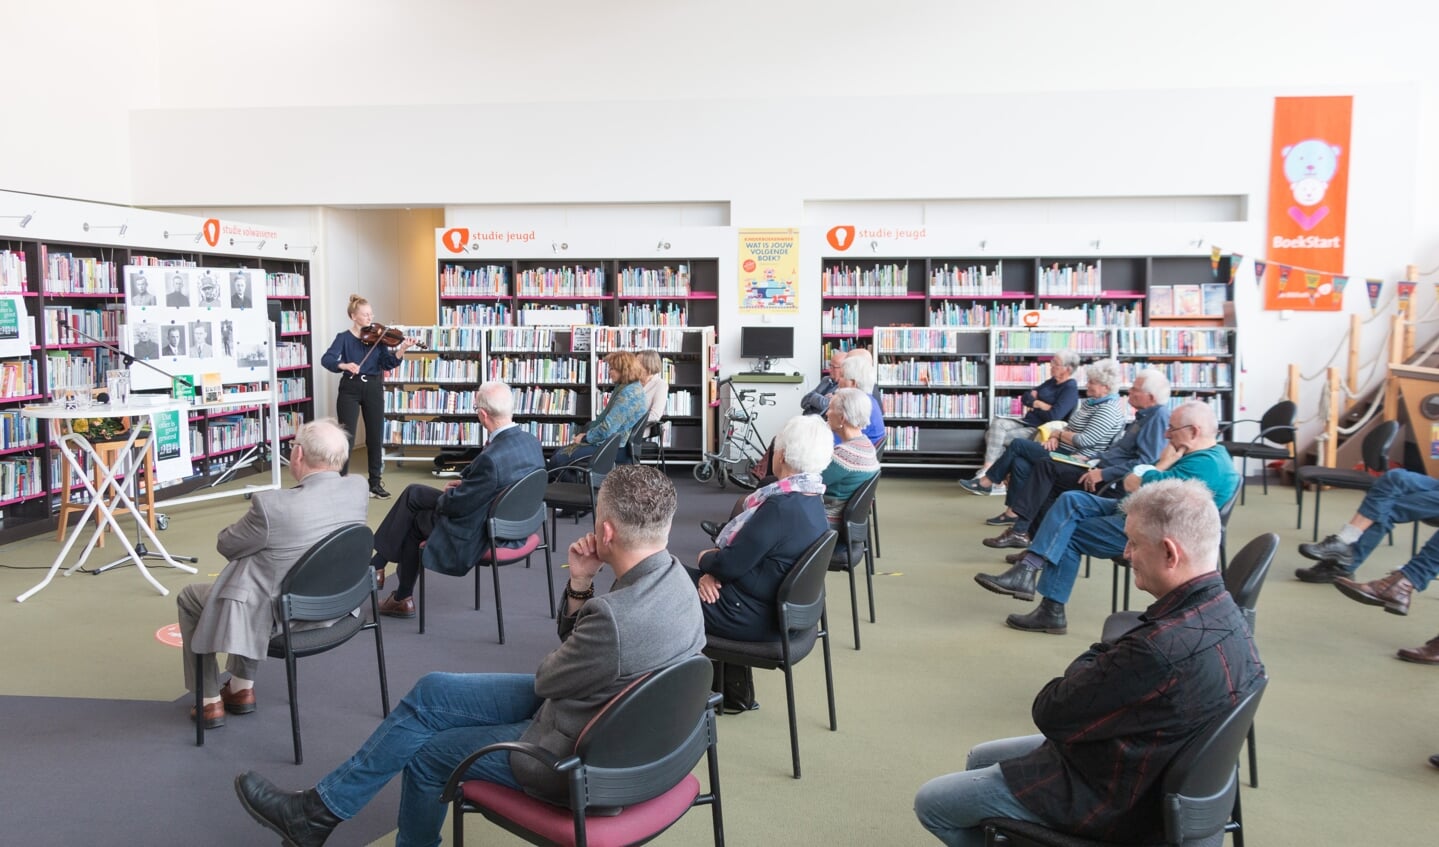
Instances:
[[[271,329],[265,272],[226,267],[125,267],[121,347],[167,374],[219,372],[226,383],[266,383]],[[168,388],[170,378],[131,365],[137,390]]]

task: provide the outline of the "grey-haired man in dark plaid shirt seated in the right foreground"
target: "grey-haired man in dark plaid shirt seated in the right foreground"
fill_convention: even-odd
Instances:
[[[1104,843],[1163,843],[1166,766],[1262,685],[1249,626],[1215,569],[1209,489],[1157,482],[1125,511],[1134,584],[1156,603],[1137,628],[1091,646],[1039,692],[1030,715],[1040,735],[981,743],[966,771],[920,789],[915,815],[945,844],[984,844],[980,821],[996,817]]]

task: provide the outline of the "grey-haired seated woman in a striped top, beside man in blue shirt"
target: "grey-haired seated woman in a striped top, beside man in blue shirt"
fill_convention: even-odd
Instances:
[[[1079,459],[1094,459],[1102,453],[1124,431],[1124,403],[1118,391],[1120,362],[1101,360],[1085,365],[1084,372],[1086,397],[1075,408],[1069,426],[1061,436],[1048,441],[1010,441],[1004,454],[984,472],[984,476],[961,480],[960,485],[973,495],[987,495],[993,492],[996,483],[1009,476],[1009,490],[1020,492],[1029,479],[1029,469],[1036,462],[1049,462],[1052,452],[1073,453]]]

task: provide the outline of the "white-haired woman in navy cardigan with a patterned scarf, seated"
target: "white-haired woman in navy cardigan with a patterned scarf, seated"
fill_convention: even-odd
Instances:
[[[780,584],[829,529],[820,473],[833,452],[829,427],[813,416],[791,417],[774,437],[778,480],[744,499],[744,511],[720,529],[717,546],[699,554],[698,569],[691,571],[707,633],[735,641],[780,637],[774,607]],[[753,709],[750,669],[727,666],[727,674],[715,680],[724,685],[717,690],[725,695],[725,709]]]

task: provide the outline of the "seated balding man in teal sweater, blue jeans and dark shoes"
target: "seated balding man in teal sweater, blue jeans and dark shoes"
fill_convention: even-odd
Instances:
[[[1217,430],[1209,404],[1181,403],[1170,413],[1168,446],[1160,460],[1153,469],[1138,467],[1125,476],[1124,490],[1134,492],[1166,479],[1197,479],[1209,489],[1215,508],[1223,506],[1239,490],[1239,473],[1229,452],[1215,440]],[[1065,492],[1045,515],[1029,552],[1014,554],[1014,567],[997,577],[979,574],[974,581],[996,594],[1033,600],[1038,580],[1043,597],[1039,608],[1025,615],[1012,614],[1004,623],[1026,633],[1062,636],[1068,631],[1065,603],[1079,575],[1079,558],[1124,555],[1124,542],[1120,500]]]

